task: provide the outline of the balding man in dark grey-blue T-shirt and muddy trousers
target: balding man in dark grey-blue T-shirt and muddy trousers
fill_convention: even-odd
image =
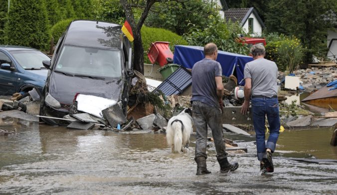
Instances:
[[[222,132],[222,69],[215,61],[218,55],[214,43],[204,47],[205,58],[196,62],[192,68],[192,111],[196,129],[195,162],[196,175],[210,174],[206,167],[207,125],[212,130],[216,158],[220,172],[227,173],[239,167],[238,163],[229,163]]]

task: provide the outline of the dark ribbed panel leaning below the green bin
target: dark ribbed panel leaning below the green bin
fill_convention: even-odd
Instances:
[[[191,73],[180,66],[156,90],[161,90],[166,96],[180,94],[192,84]]]

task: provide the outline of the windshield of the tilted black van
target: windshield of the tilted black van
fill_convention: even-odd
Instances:
[[[65,45],[55,70],[74,76],[121,77],[120,51]]]

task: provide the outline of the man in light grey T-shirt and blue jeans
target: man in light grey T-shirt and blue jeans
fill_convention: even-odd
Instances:
[[[252,99],[252,118],[256,133],[257,158],[260,161],[260,170],[274,172],[272,153],[280,133],[279,102],[277,98],[278,68],[275,62],[264,59],[265,48],[262,45],[253,45],[250,48],[253,61],[248,62],[244,69],[245,101],[241,113],[246,114]],[[269,123],[270,135],[265,142],[266,115]]]

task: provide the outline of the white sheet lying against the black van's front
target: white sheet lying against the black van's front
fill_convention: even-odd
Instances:
[[[76,98],[77,110],[103,118],[102,110],[116,104],[115,100],[93,95],[79,94]]]

